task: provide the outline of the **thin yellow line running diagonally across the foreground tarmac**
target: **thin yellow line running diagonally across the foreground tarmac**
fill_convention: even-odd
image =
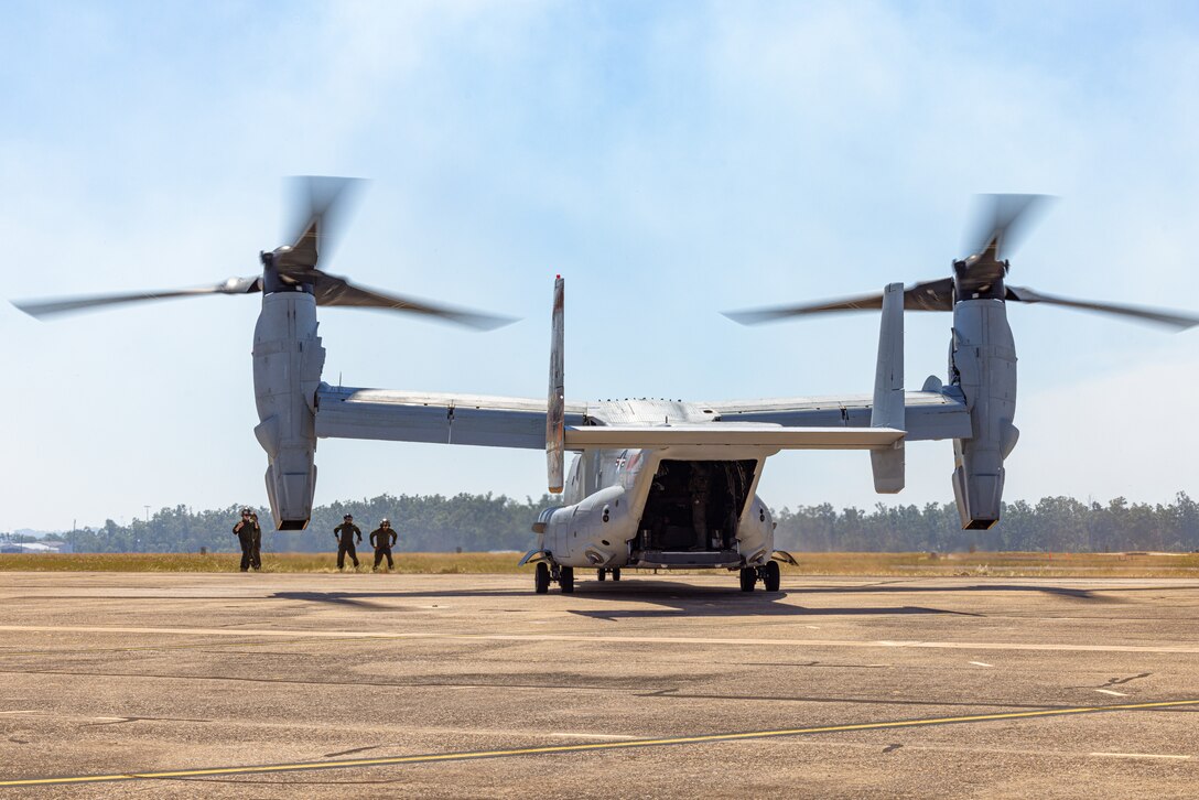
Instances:
[[[269,775],[272,772],[297,772],[303,770],[350,769],[361,766],[394,766],[398,764],[429,764],[436,762],[468,762],[483,758],[513,756],[546,756],[553,753],[579,753],[604,750],[632,750],[634,747],[664,747],[668,745],[701,745],[718,741],[748,741],[801,736],[818,733],[844,733],[850,730],[884,730],[894,728],[918,728],[935,724],[963,722],[992,722],[995,720],[1026,720],[1034,717],[1096,714],[1099,711],[1132,711],[1140,709],[1167,709],[1199,705],[1199,699],[1163,700],[1158,703],[1132,703],[1127,705],[1087,705],[1068,709],[1044,709],[1041,711],[1006,711],[1002,714],[975,714],[970,716],[933,717],[927,720],[897,720],[894,722],[858,722],[815,728],[784,728],[779,730],[751,730],[747,733],[713,733],[699,736],[673,736],[668,739],[634,739],[632,741],[602,741],[586,745],[549,745],[544,747],[519,747],[512,750],[484,750],[454,753],[427,753],[422,756],[394,756],[390,758],[354,758],[337,762],[296,762],[294,764],[257,764],[251,766],[216,766],[210,769],[170,770],[162,772],[119,772],[114,775],[78,775],[66,777],[23,778],[0,781],[5,786],[48,786],[66,783],[109,783],[113,781],[147,781],[161,778],[211,777],[215,775]]]

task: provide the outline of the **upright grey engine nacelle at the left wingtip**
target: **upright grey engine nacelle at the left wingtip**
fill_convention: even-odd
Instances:
[[[254,435],[266,451],[266,494],[278,530],[302,530],[317,489],[317,387],[325,348],[317,301],[303,291],[263,296],[254,326]]]

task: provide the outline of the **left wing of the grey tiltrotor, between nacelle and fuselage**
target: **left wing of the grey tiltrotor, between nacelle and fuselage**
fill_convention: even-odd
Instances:
[[[586,425],[585,403],[566,404],[566,425]],[[546,399],[438,395],[321,384],[317,435],[487,447],[546,449]]]

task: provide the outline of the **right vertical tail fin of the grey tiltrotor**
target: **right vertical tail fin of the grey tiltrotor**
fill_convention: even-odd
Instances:
[[[879,326],[879,362],[874,373],[872,428],[905,429],[903,390],[903,284],[892,283],[882,293]],[[904,487],[904,444],[899,439],[886,450],[870,451],[874,491],[894,494]]]

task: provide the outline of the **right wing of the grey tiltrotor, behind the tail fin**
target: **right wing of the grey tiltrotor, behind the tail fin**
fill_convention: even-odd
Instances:
[[[835,397],[782,397],[754,401],[698,403],[712,419],[724,422],[766,422],[788,428],[862,428],[870,426],[870,395]],[[974,435],[965,398],[952,387],[904,392],[908,441],[964,439]]]

